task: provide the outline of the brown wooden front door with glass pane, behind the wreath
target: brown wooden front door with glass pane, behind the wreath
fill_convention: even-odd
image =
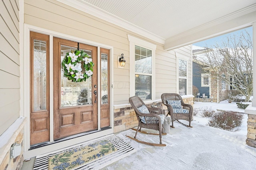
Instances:
[[[63,75],[62,60],[66,53],[78,49],[78,45],[94,63],[92,77],[86,82],[72,82]],[[54,140],[97,130],[97,47],[54,37],[53,51]]]

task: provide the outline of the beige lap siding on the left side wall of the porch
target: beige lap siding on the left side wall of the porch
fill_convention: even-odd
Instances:
[[[18,0],[0,1],[0,135],[20,115]]]

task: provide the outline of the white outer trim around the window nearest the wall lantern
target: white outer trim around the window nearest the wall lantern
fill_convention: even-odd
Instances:
[[[152,51],[152,96],[151,100],[156,99],[156,72],[155,72],[155,61],[156,61],[156,45],[149,43],[148,41],[144,41],[142,39],[133,37],[132,35],[127,35],[129,40],[129,50],[130,50],[130,97],[135,95],[135,45],[140,47],[144,47]]]

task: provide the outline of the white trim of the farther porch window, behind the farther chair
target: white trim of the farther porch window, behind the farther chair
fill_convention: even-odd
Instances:
[[[175,55],[176,55],[176,52],[175,52]],[[186,70],[186,75],[187,76],[186,76],[186,78],[179,76],[179,60],[184,60],[184,61],[187,62],[187,66],[186,66],[186,69],[187,69]],[[187,95],[188,94],[188,57],[183,56],[183,55],[179,55],[179,57],[177,57],[177,55],[176,55],[176,84],[177,84],[176,93],[177,94],[180,94],[179,93],[179,88],[180,88],[179,80],[180,80],[180,78],[186,79],[186,94],[185,95]]]

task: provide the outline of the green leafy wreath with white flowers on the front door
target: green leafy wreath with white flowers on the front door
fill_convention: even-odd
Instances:
[[[86,81],[93,74],[92,58],[84,51],[71,50],[62,61],[64,77],[72,82]],[[83,64],[83,67],[82,67]]]

